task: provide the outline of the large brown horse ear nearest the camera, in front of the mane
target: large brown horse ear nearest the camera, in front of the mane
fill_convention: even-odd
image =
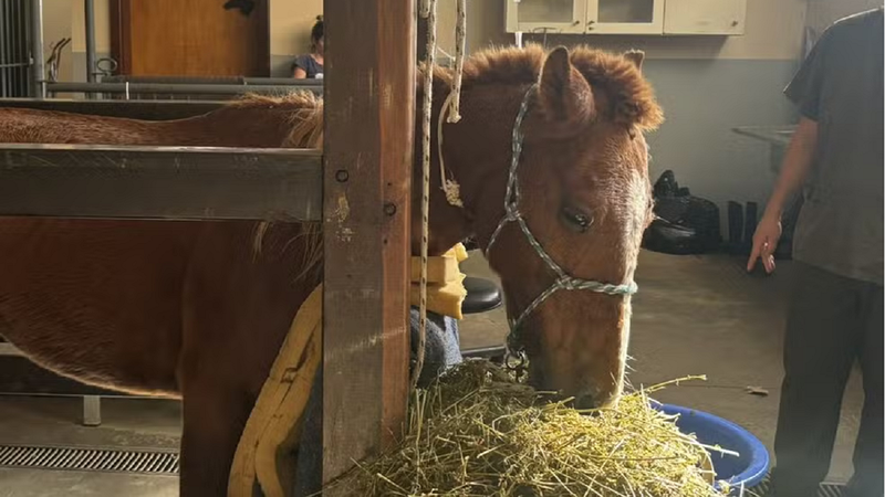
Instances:
[[[564,46],[546,56],[538,93],[542,112],[550,120],[577,125],[593,115],[593,91],[572,66]]]

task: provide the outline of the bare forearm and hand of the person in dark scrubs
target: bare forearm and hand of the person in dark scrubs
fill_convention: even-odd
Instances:
[[[774,251],[781,237],[781,218],[783,210],[792,197],[805,182],[814,160],[814,150],[818,147],[818,123],[802,117],[799,127],[790,140],[787,155],[781,165],[781,173],[774,191],[766,205],[762,219],[753,234],[753,248],[747,262],[747,271],[753,271],[756,262],[762,260],[766,272],[774,271]]]

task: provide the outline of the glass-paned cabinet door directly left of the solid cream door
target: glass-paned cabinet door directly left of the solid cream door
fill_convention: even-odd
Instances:
[[[589,34],[662,34],[664,0],[587,0],[586,28]]]

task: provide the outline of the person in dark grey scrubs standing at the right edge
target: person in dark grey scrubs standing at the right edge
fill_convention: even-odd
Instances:
[[[804,187],[784,340],[772,491],[813,497],[826,477],[855,361],[864,387],[845,496],[883,495],[883,9],[831,25],[785,95],[801,117],[747,269],[774,271],[781,214]]]

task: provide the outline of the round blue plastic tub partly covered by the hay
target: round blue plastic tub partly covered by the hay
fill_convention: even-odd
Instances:
[[[764,479],[771,458],[766,446],[752,433],[702,411],[671,404],[654,405],[667,414],[679,414],[676,425],[680,432],[694,433],[705,445],[719,445],[739,454],[733,456],[710,452],[717,482],[727,482],[732,495],[739,495],[741,488],[752,488]]]

